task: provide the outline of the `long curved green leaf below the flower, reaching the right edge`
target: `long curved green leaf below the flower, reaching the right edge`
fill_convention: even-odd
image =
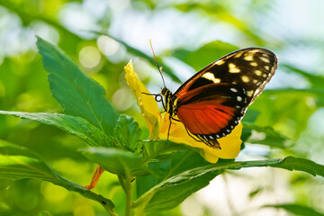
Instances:
[[[139,212],[172,209],[183,202],[191,193],[207,185],[214,176],[219,175],[224,170],[238,170],[253,166],[272,166],[288,170],[294,169],[307,172],[311,175],[324,176],[324,166],[303,158],[284,157],[282,159],[275,158],[258,161],[222,161],[216,165],[200,166],[173,175],[140,196],[135,204],[139,206]]]

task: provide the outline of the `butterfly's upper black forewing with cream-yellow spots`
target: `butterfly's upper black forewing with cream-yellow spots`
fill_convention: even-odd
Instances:
[[[203,85],[232,84],[246,90],[247,105],[252,103],[275,74],[277,59],[267,49],[240,49],[204,67],[175,92],[178,100]]]

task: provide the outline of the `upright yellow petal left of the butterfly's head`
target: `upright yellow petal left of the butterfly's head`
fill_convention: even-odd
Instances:
[[[139,76],[137,76],[137,74],[134,72],[134,67],[131,60],[124,68],[126,71],[125,78],[127,84],[130,85],[132,92],[135,94],[140,113],[144,116],[148,123],[150,139],[157,139],[157,116],[159,115],[157,102],[152,95],[148,95],[148,89],[140,82]]]

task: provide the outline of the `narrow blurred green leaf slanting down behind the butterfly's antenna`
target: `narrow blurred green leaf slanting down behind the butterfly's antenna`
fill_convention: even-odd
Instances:
[[[134,56],[141,57],[141,58],[146,58],[149,63],[151,63],[152,65],[156,66],[156,61],[155,61],[155,59],[153,57],[150,57],[147,54],[145,54],[144,52],[140,51],[139,49],[136,49],[136,48],[130,46],[125,41],[120,40],[120,39],[117,39],[117,38],[113,37],[112,35],[107,34],[107,33],[104,33],[104,32],[99,32],[99,31],[92,31],[92,32],[94,32],[95,34],[98,34],[98,35],[106,35],[106,36],[112,38],[113,40],[116,40],[117,42],[119,42],[123,46],[125,46],[125,48],[127,49],[127,51],[130,52],[131,54],[133,54]],[[153,56],[153,54],[152,54],[152,56]],[[161,66],[163,66],[163,73],[166,73],[175,82],[181,83],[181,80],[177,76],[175,76],[175,71],[172,68],[167,67],[163,63],[163,60],[161,58],[157,58],[157,62],[160,62]]]

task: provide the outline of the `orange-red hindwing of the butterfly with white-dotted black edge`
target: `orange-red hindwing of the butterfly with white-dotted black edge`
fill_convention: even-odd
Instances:
[[[238,124],[247,104],[247,94],[239,85],[203,85],[177,103],[176,114],[193,135],[207,145],[226,136]]]

